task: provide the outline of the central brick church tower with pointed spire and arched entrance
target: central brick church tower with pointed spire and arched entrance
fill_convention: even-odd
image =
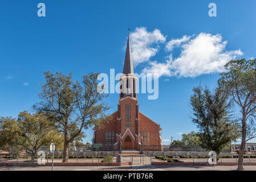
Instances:
[[[117,140],[122,149],[137,150],[140,142],[139,105],[137,104],[137,77],[133,72],[131,46],[128,35],[123,75],[119,78],[120,96],[117,117]]]

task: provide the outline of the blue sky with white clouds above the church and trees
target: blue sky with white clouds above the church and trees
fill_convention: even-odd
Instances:
[[[40,2],[46,17],[37,16]],[[211,2],[217,17],[208,15]],[[159,98],[139,94],[140,111],[161,124],[165,143],[180,139],[197,130],[190,118],[193,86],[213,88],[231,57],[256,57],[255,7],[253,0],[1,1],[0,115],[31,110],[43,71],[72,72],[74,80],[91,71],[123,71],[131,28],[135,72],[160,73]],[[108,98],[109,113],[118,97]],[[92,137],[92,130],[86,133],[84,142]]]

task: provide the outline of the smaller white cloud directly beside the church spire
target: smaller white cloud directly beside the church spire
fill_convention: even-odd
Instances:
[[[132,60],[135,66],[155,56],[157,51],[159,51],[159,43],[164,43],[166,39],[159,29],[148,32],[145,27],[136,28],[131,33],[130,38]]]

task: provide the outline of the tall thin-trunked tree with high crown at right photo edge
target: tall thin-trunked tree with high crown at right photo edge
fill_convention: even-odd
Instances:
[[[247,136],[248,125],[253,126],[256,114],[256,59],[231,60],[225,65],[218,81],[229,90],[230,98],[239,107],[241,117],[241,147],[239,149],[238,170],[243,170],[243,151],[247,140],[256,137],[256,133]]]

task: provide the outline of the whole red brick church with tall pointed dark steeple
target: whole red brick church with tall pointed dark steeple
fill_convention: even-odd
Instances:
[[[125,53],[123,75],[120,76],[120,97],[117,111],[111,121],[94,128],[94,143],[102,143],[102,149],[162,150],[160,124],[152,121],[139,111],[137,99],[137,77],[133,64],[129,35]],[[153,109],[153,108],[152,108]],[[153,111],[153,110],[152,110]],[[120,143],[121,141],[121,143]]]

